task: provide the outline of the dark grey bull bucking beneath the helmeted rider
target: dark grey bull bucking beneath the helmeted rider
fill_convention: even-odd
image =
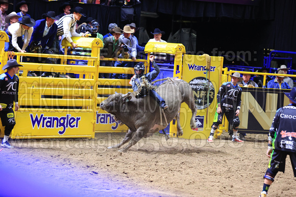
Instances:
[[[173,82],[172,82],[173,81]],[[181,103],[185,102],[192,111],[190,127],[195,128],[196,110],[192,89],[186,81],[167,80],[156,89],[156,92],[165,100],[168,108],[162,113],[157,102],[150,96],[135,98],[133,93],[113,94],[104,100],[100,107],[117,120],[129,127],[129,131],[122,141],[109,148],[119,148],[129,143],[122,152],[127,152],[142,137],[149,137],[153,133],[164,129],[172,119],[177,120],[177,135],[181,136],[183,130],[180,126],[179,110]]]

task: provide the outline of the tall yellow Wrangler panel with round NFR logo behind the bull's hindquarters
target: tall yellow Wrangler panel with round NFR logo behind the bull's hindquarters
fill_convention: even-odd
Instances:
[[[183,138],[205,139],[210,133],[213,123],[217,99],[216,95],[222,79],[223,57],[210,57],[210,68],[206,69],[206,58],[203,55],[183,56],[182,79],[187,81],[193,91],[195,105],[198,112],[195,117],[196,128],[190,128],[191,110],[182,103],[180,109],[180,123],[183,128]],[[172,128],[173,129],[173,128]],[[173,132],[172,129],[170,132]]]

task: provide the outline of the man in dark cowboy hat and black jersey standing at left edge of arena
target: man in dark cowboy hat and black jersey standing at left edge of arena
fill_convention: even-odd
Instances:
[[[15,103],[15,111],[18,107],[18,85],[19,79],[17,74],[19,65],[16,60],[9,60],[2,70],[7,69],[7,72],[0,75],[0,117],[2,125],[5,126],[4,138],[2,140],[2,147],[13,148],[8,142],[9,135],[15,125],[15,116],[13,111],[13,103]]]

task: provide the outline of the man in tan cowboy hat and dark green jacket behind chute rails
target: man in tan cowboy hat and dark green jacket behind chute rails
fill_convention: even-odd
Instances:
[[[123,34],[122,30],[119,27],[115,27],[110,31],[113,36],[104,38],[104,48],[101,50],[101,59],[104,58],[114,58],[117,60],[117,53],[121,45],[120,35]],[[112,61],[103,61],[101,60],[101,66],[113,66]],[[100,73],[100,78],[110,78],[108,73]]]

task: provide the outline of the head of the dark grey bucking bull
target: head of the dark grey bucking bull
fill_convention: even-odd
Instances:
[[[130,92],[127,94],[115,93],[110,95],[106,100],[100,104],[101,109],[108,111],[110,114],[114,114],[117,111],[125,111],[126,103],[132,99]]]

